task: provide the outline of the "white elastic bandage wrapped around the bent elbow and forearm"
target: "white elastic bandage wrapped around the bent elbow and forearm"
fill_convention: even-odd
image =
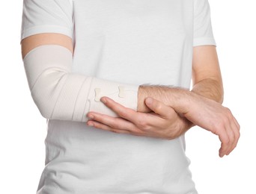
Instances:
[[[116,116],[102,96],[137,110],[138,86],[72,73],[73,56],[63,46],[38,46],[23,63],[31,96],[46,119],[86,122],[89,111]]]

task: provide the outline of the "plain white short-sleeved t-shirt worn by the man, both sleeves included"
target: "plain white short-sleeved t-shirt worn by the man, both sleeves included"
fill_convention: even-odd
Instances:
[[[73,38],[73,72],[189,89],[193,46],[215,45],[207,0],[24,0],[22,39]],[[39,194],[195,194],[185,140],[49,120]]]

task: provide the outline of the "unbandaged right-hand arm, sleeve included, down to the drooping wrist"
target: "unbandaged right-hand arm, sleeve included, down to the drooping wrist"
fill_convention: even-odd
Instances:
[[[210,18],[208,0],[194,0],[192,91],[223,101],[222,75]]]

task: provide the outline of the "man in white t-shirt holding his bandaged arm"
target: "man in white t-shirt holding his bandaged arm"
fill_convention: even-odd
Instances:
[[[49,121],[38,193],[197,193],[183,134],[218,135],[220,157],[237,145],[206,0],[25,1],[22,21]]]

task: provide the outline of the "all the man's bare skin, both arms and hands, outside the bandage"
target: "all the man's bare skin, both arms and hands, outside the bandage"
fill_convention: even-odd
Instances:
[[[37,46],[55,44],[73,52],[70,37],[62,34],[36,34],[22,40],[22,57]],[[193,48],[192,90],[165,86],[141,86],[138,111],[123,107],[110,98],[101,101],[119,117],[88,113],[87,124],[120,134],[171,140],[193,125],[219,136],[219,156],[228,155],[237,146],[240,125],[227,107],[222,106],[222,76],[215,46]]]

